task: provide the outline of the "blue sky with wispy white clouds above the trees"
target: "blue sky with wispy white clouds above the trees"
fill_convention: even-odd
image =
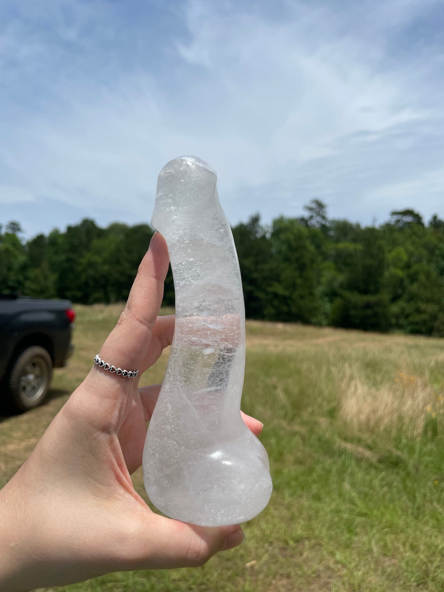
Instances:
[[[182,155],[233,224],[444,217],[444,0],[0,2],[0,223],[147,222]]]

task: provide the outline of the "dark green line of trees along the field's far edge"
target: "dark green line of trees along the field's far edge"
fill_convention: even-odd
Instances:
[[[399,210],[363,227],[329,218],[320,200],[304,211],[233,227],[247,318],[444,336],[444,220]],[[0,293],[126,300],[152,234],[147,224],[85,219],[24,240],[9,222],[0,227]],[[163,302],[174,303],[170,271]]]

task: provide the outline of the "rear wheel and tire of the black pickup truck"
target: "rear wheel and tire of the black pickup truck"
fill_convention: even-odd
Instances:
[[[28,411],[43,403],[52,378],[53,362],[46,349],[33,346],[18,356],[9,374],[10,403]]]

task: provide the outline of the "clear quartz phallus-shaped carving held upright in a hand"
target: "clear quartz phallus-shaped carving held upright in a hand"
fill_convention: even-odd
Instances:
[[[167,516],[201,526],[244,522],[271,496],[268,455],[240,416],[245,312],[233,235],[217,175],[169,162],[152,226],[168,244],[176,327],[143,451],[147,494]]]

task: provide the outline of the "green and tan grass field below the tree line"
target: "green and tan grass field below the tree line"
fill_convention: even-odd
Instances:
[[[49,402],[0,423],[4,484],[82,381],[118,305],[77,307]],[[159,382],[168,353],[141,378]],[[247,322],[242,408],[265,426],[274,493],[246,542],[195,570],[57,590],[444,590],[444,340]],[[134,485],[144,494],[140,470]],[[55,590],[55,589],[54,589]]]

